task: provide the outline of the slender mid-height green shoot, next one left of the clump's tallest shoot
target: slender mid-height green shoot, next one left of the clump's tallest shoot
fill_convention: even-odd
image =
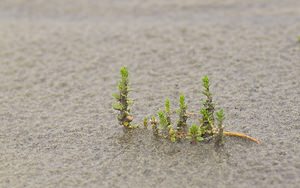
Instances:
[[[185,131],[187,128],[187,105],[185,104],[185,97],[183,94],[180,95],[179,97],[179,120],[177,122],[177,129],[179,131]]]

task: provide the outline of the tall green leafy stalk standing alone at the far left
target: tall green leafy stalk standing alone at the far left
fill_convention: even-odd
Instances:
[[[130,126],[130,122],[133,120],[133,116],[130,114],[129,108],[129,106],[132,104],[132,100],[128,98],[129,74],[127,68],[122,67],[120,74],[121,80],[118,83],[119,93],[113,94],[113,97],[116,99],[116,102],[113,104],[113,109],[119,111],[119,124],[126,128],[132,128],[132,126]]]

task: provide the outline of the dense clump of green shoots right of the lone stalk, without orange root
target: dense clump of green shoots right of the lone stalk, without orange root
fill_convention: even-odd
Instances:
[[[179,96],[179,109],[177,123],[172,123],[170,118],[170,100],[165,102],[165,110],[159,110],[158,115],[158,129],[153,127],[153,133],[155,135],[169,138],[172,142],[182,139],[189,139],[191,143],[197,143],[205,140],[215,138],[217,145],[223,144],[223,120],[224,112],[221,109],[215,113],[215,105],[212,100],[212,94],[210,92],[209,78],[204,76],[202,79],[203,94],[205,100],[200,113],[197,115],[198,124],[193,123],[188,125],[187,121],[191,113],[187,112],[187,104],[185,103],[185,96],[181,94]],[[217,125],[215,125],[215,115],[217,116]]]

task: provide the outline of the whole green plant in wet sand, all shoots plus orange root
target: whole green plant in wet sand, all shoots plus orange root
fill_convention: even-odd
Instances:
[[[116,103],[114,103],[113,108],[119,111],[119,124],[125,128],[132,128],[130,122],[133,117],[129,109],[129,105],[132,102],[128,99],[128,70],[122,67],[120,72],[121,80],[118,84],[119,93],[114,94]],[[172,142],[188,139],[191,143],[195,144],[197,142],[215,140],[217,146],[222,146],[224,144],[224,136],[235,136],[259,143],[255,138],[243,133],[224,131],[224,111],[220,109],[215,112],[215,104],[213,103],[208,76],[202,78],[202,86],[202,93],[205,99],[198,114],[187,111],[185,96],[181,94],[179,96],[179,108],[175,111],[178,114],[176,123],[172,121],[171,115],[173,111],[171,110],[170,100],[167,98],[165,100],[164,110],[159,110],[157,116],[153,115],[150,120],[148,120],[148,117],[144,118],[144,127],[148,127],[149,121],[155,136],[170,139]],[[190,117],[196,117],[197,123],[194,122],[189,125],[188,119]]]

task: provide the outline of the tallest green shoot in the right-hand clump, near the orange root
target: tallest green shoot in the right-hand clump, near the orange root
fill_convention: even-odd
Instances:
[[[202,115],[202,126],[206,127],[208,131],[212,131],[214,125],[214,112],[215,105],[212,101],[212,94],[210,92],[210,82],[208,76],[202,78],[203,85],[203,94],[206,96],[206,99],[203,102],[203,108],[200,113]]]

